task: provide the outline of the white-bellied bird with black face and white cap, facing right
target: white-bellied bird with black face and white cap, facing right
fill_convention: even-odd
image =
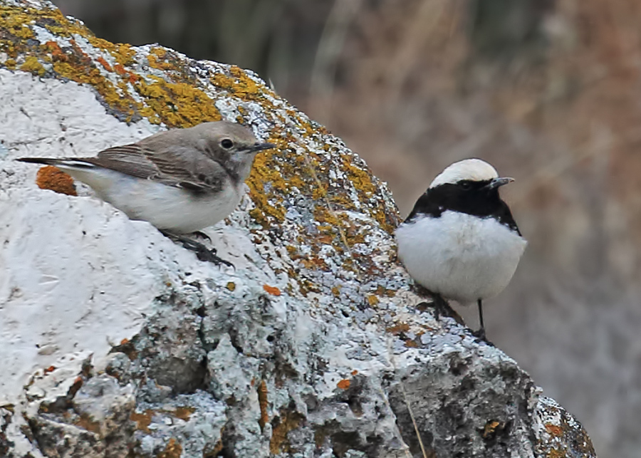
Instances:
[[[482,301],[508,285],[527,244],[499,196],[499,187],[513,181],[480,159],[454,162],[396,230],[398,256],[412,279],[442,298],[478,304],[481,338]]]

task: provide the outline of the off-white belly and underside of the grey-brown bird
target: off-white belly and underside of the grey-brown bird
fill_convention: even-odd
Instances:
[[[198,195],[98,167],[90,170],[61,168],[88,184],[100,199],[131,219],[148,221],[158,229],[178,234],[199,231],[226,218],[236,209],[244,192],[242,183],[236,187],[228,182],[217,194]]]

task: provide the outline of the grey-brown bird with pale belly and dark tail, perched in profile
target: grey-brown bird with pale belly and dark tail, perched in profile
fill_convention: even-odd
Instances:
[[[159,132],[96,157],[19,161],[54,165],[131,219],[150,222],[200,259],[221,262],[212,250],[182,234],[229,216],[245,192],[256,153],[273,147],[256,140],[247,127],[218,121]]]

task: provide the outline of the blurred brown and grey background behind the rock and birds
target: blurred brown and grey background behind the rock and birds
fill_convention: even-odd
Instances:
[[[403,216],[455,160],[515,177],[530,245],[488,335],[600,457],[641,457],[641,2],[53,1],[101,38],[257,71]]]

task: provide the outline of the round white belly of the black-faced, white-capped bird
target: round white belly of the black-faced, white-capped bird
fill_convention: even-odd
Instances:
[[[396,239],[399,259],[415,281],[462,304],[503,291],[527,244],[494,218],[452,211],[401,224]]]

